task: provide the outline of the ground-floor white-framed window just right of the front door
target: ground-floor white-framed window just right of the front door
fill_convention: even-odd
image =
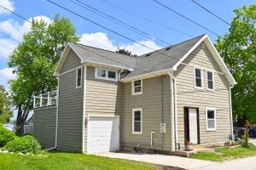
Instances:
[[[215,108],[207,107],[206,116],[207,116],[207,131],[215,131],[216,130],[216,110],[215,110]]]

